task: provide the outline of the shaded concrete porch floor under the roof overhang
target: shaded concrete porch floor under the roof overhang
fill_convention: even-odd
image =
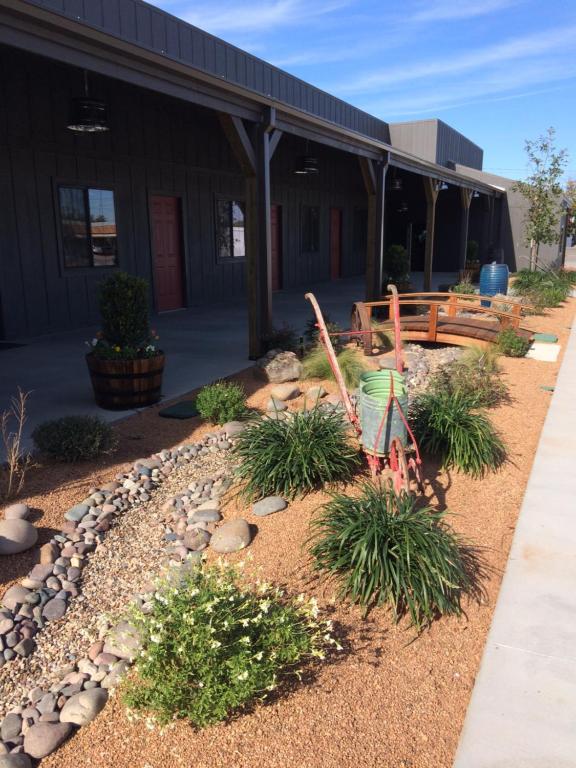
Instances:
[[[434,277],[434,287],[454,279],[449,273],[437,273]],[[422,285],[421,273],[413,275],[413,284]],[[351,306],[364,296],[364,277],[311,285],[309,290],[316,294],[325,314],[348,328]],[[274,294],[277,327],[286,322],[300,333],[304,331],[306,321],[312,317],[304,293],[304,289],[300,289]],[[245,301],[162,314],[153,319],[152,325],[160,334],[160,344],[166,352],[165,400],[250,365]],[[42,336],[26,340],[25,346],[0,351],[0,412],[6,409],[18,387],[31,392],[27,437],[46,419],[83,413],[115,421],[134,413],[104,411],[93,401],[84,354],[86,340],[97,330],[81,328]]]

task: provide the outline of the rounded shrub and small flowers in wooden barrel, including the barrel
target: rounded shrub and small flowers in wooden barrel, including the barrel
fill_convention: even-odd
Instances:
[[[115,272],[99,289],[102,331],[86,363],[96,403],[107,410],[153,405],[162,394],[164,354],[148,320],[148,283]]]

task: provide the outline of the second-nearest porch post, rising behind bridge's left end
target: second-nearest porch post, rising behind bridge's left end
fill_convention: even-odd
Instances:
[[[382,296],[388,155],[383,160],[373,161],[366,157],[360,157],[359,160],[368,195],[366,301],[375,301]]]

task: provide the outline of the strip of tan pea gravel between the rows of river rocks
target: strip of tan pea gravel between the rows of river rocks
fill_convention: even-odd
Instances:
[[[83,572],[82,594],[65,616],[49,622],[36,636],[37,648],[0,669],[0,718],[25,703],[23,693],[39,685],[48,689],[71,671],[99,638],[106,616],[117,617],[136,592],[153,580],[166,558],[163,503],[192,480],[214,476],[230,465],[225,453],[201,456],[175,470],[146,504],[124,512],[90,556]]]

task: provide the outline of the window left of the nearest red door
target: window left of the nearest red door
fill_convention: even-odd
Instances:
[[[114,192],[59,187],[64,266],[114,267],[118,263]]]

